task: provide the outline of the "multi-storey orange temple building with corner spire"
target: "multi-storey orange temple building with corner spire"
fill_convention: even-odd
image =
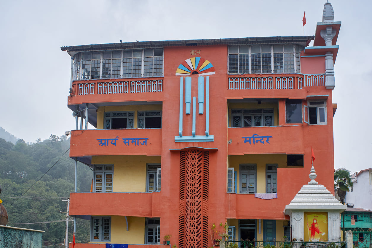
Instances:
[[[91,220],[75,247],[291,239],[284,209],[309,180],[311,147],[334,193],[340,25],[326,3],[314,36],[61,47],[70,157],[93,170],[93,192],[70,194],[70,216]]]

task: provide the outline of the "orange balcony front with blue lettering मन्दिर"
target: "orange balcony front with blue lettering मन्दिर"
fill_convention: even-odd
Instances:
[[[228,128],[228,155],[287,153],[304,154],[303,126]]]

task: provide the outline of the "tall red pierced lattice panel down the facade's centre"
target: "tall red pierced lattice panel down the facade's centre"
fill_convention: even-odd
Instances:
[[[208,247],[209,152],[180,152],[179,247]]]

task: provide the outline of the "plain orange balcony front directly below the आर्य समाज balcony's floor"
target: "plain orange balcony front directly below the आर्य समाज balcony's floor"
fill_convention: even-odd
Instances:
[[[70,215],[160,217],[160,192],[70,193]]]

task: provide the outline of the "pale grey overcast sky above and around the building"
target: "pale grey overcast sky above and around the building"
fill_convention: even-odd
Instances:
[[[26,142],[74,129],[61,46],[314,35],[326,0],[0,1],[0,126]],[[341,21],[333,103],[335,168],[370,168],[372,1],[332,0]],[[330,154],[331,155],[331,154]],[[315,154],[316,156],[316,154]]]

